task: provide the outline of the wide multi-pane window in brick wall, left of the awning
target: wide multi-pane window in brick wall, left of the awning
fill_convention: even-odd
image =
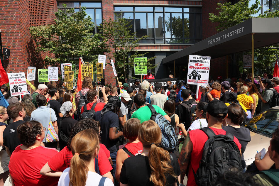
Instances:
[[[115,19],[130,18],[140,43],[193,44],[202,39],[201,9],[115,6]]]

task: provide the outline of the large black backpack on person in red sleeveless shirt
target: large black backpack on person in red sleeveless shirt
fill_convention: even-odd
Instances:
[[[197,185],[211,185],[225,171],[242,170],[241,155],[231,133],[216,135],[209,127],[198,130],[206,133],[208,140],[204,144],[197,173],[193,170]]]

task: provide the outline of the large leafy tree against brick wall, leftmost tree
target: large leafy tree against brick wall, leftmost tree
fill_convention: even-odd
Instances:
[[[64,9],[55,12],[55,24],[30,27],[36,50],[51,54],[43,59],[45,65],[77,63],[80,56],[95,63],[98,54],[108,52],[105,38],[102,34],[93,34],[94,23],[85,13],[85,7],[75,12],[63,6]]]

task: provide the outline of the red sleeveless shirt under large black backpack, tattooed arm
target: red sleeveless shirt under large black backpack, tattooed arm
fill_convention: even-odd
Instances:
[[[224,131],[221,128],[212,128],[210,127],[216,135],[219,134],[226,134],[226,131]],[[189,168],[189,175],[188,175],[188,181],[187,186],[189,185],[196,185],[195,177],[193,174],[193,171],[197,173],[197,170],[199,168],[199,162],[202,160],[202,153],[204,149],[204,143],[208,140],[207,135],[202,130],[192,130],[189,131],[190,140],[193,143],[193,151],[191,153],[191,161],[190,161],[190,168]],[[236,143],[239,150],[241,149],[241,144],[239,143],[238,139],[234,137],[234,142]]]

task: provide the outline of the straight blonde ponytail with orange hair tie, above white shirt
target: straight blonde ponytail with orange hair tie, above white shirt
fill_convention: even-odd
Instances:
[[[85,129],[77,133],[71,141],[72,160],[69,172],[69,186],[85,186],[88,167],[86,162],[96,158],[96,148],[99,146],[99,137],[93,129]]]

